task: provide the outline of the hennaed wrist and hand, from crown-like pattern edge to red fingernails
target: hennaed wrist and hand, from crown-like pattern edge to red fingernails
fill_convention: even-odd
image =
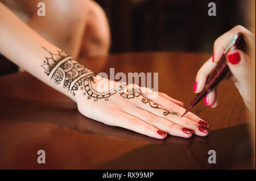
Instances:
[[[180,101],[145,87],[109,81],[63,51],[48,53],[42,65],[45,73],[55,83],[63,75],[58,84],[75,96],[82,115],[159,139],[165,138],[166,133],[186,138],[193,133],[208,134],[208,124],[193,113],[181,117],[184,108]],[[152,94],[157,95],[155,99],[149,98]]]

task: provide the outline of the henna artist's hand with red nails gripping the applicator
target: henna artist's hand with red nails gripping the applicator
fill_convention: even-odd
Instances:
[[[222,54],[224,53],[226,47],[228,47],[230,41],[233,37],[241,32],[246,39],[247,45],[251,50],[255,51],[255,36],[249,30],[242,26],[236,26],[232,30],[224,33],[214,42],[213,56],[205,62],[196,75],[196,82],[193,91],[196,93],[201,92],[204,89],[205,81],[210,72],[215,68],[217,62],[220,60]],[[228,61],[228,66],[232,74],[228,79],[234,82],[240,92],[243,101],[246,106],[250,108],[251,105],[251,71],[250,64],[251,60],[249,56],[241,50],[232,50],[226,55],[226,60]],[[205,96],[205,106],[210,106],[211,108],[216,107],[218,104],[217,99],[217,87],[210,91],[207,96]]]

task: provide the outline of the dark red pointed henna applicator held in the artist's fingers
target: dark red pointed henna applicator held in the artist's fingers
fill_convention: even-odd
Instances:
[[[187,110],[183,113],[181,117],[183,117],[188,111],[190,111],[201,99],[204,98],[209,91],[211,91],[218,83],[224,79],[224,77],[228,76],[230,73],[228,63],[226,61],[226,53],[229,50],[233,49],[241,49],[243,51],[246,50],[245,40],[243,39],[242,33],[237,33],[232,42],[229,44],[229,47],[226,48],[224,54],[221,56],[220,61],[216,68],[212,70],[212,72],[208,75],[207,81],[205,83],[205,88],[200,93],[196,94],[195,98],[189,104]]]

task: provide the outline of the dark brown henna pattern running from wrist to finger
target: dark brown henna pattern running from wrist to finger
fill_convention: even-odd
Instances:
[[[98,99],[108,101],[108,98],[117,92],[125,99],[134,99],[142,96],[142,103],[148,103],[152,108],[163,110],[164,116],[172,114],[181,117],[181,115],[178,115],[176,112],[166,110],[152,102],[141,92],[141,89],[128,89],[128,83],[123,83],[105,92],[98,92],[92,85],[92,83],[95,83],[94,79],[96,78],[96,74],[92,70],[86,68],[85,65],[82,65],[79,61],[68,56],[68,54],[62,50],[57,50],[57,53],[52,53],[46,48],[42,48],[49,53],[49,56],[45,57],[43,61],[44,64],[41,65],[42,68],[44,68],[44,72],[53,82],[63,86],[64,89],[67,89],[73,95],[76,95],[76,91],[79,90],[80,87],[80,90],[84,91],[83,95],[87,95],[87,99],[93,98],[94,102],[97,102]]]

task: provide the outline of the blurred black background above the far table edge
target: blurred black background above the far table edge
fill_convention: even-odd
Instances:
[[[112,34],[110,53],[186,51],[212,53],[214,40],[237,24],[247,27],[247,0],[96,0]],[[208,3],[216,16],[208,16]],[[1,56],[1,54],[0,54]],[[0,57],[0,75],[18,68]]]

